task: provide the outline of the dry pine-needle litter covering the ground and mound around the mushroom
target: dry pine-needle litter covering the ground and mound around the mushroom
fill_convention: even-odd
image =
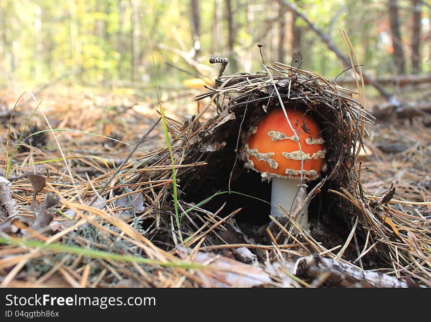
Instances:
[[[51,127],[75,131],[45,132],[45,141],[33,141],[32,147],[20,149],[14,155],[8,179],[12,182],[11,198],[18,204],[18,213],[8,218],[4,207],[1,208],[0,286],[325,285],[329,276],[311,279],[295,275],[295,261],[313,254],[354,269],[364,267],[362,261],[372,257],[378,259],[377,267],[374,267],[377,272],[400,280],[407,278],[420,286],[431,286],[431,132],[427,120],[367,125],[371,138],[365,137],[364,143],[372,155],[360,157],[355,163],[347,143],[352,145],[362,140],[360,126],[363,126],[364,117],[371,119],[370,116],[358,102],[349,98],[349,91],[327,83],[322,77],[296,71],[297,78],[289,84],[292,79],[289,68],[283,65],[277,68],[285,73],[271,71],[274,74],[272,80],[268,73],[222,79],[226,80],[223,86],[219,84],[209,92],[213,102],[218,104],[211,104],[206,99],[208,109],[205,103],[200,105],[199,120],[185,118],[186,114],[199,113],[194,110],[197,107],[192,96],[164,103],[179,178],[180,226],[173,211],[172,165],[161,124],[127,159],[132,147],[159,118],[151,99],[137,99],[134,93],[120,90],[117,94],[111,91],[111,94],[94,95],[86,88],[41,93],[37,99],[44,99],[41,111]],[[228,83],[232,80],[238,81]],[[307,87],[296,86],[304,81]],[[345,240],[332,248],[326,248],[312,234],[293,233],[294,221],[285,224],[275,219],[272,219],[273,227],[266,229],[269,242],[257,243],[238,232],[235,216],[240,208],[229,208],[221,202],[218,210],[211,211],[206,207],[212,199],[209,196],[202,197],[200,203],[183,198],[193,191],[191,186],[198,187],[197,182],[208,185],[210,179],[205,179],[206,175],[210,177],[216,173],[214,166],[217,164],[209,161],[207,156],[223,150],[216,145],[224,141],[221,131],[232,129],[226,135],[231,135],[237,143],[239,125],[248,128],[255,122],[262,113],[259,108],[268,102],[268,96],[273,97],[273,102],[266,105],[276,104],[277,96],[269,91],[273,82],[288,88],[290,99],[315,90],[314,101],[321,102],[322,97],[325,104],[332,101],[332,105],[326,104],[329,112],[317,110],[322,118],[334,125],[328,126],[325,135],[335,133],[335,129],[341,129],[340,137],[345,132],[352,134],[353,141],[343,139],[341,143],[332,143],[329,174],[317,184],[321,190],[327,187],[327,197],[336,199],[335,202],[342,206],[338,215],[349,226]],[[254,112],[244,118],[246,102],[251,101],[249,94],[256,91],[262,92],[260,103],[256,103]],[[325,94],[325,91],[329,93]],[[1,102],[10,107],[17,97],[19,95],[2,96]],[[226,106],[239,113],[236,121],[226,118]],[[250,106],[251,103],[249,112],[252,111]],[[314,108],[311,103],[310,106]],[[334,111],[334,106],[341,107]],[[33,102],[18,106],[12,119],[11,143],[17,142],[34,108]],[[347,115],[350,124],[345,122]],[[217,125],[220,120],[224,127]],[[245,121],[240,123],[241,120]],[[7,162],[8,121],[8,118],[2,119],[1,123],[0,159],[3,164]],[[31,126],[28,134],[48,128],[38,113]],[[66,162],[52,135],[58,140],[64,156],[70,158]],[[240,137],[239,142],[245,138],[246,135]],[[198,146],[208,149],[202,151]],[[346,147],[349,149],[345,150]],[[10,152],[14,148],[10,145]],[[341,148],[345,150],[343,153],[339,152]],[[60,160],[47,162],[56,159]],[[123,163],[124,167],[112,177]],[[39,174],[47,180],[44,190],[36,196],[39,204],[48,192],[55,193],[60,199],[50,209],[54,218],[48,231],[35,231],[30,227],[35,215],[29,210],[33,188],[26,173]],[[229,177],[229,173],[223,175]],[[111,182],[102,190],[109,179]],[[382,199],[392,183],[396,189],[393,198]],[[313,190],[309,199],[315,195],[318,190]],[[274,227],[278,229],[274,230]],[[297,225],[296,228],[301,231]],[[236,239],[228,238],[232,234]],[[280,242],[281,238],[285,243]],[[346,257],[349,248],[357,252],[354,260]]]

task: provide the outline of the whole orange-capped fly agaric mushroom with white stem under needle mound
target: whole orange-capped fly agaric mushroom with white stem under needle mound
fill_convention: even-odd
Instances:
[[[283,110],[276,109],[252,129],[244,147],[244,167],[261,173],[263,179],[272,179],[271,216],[276,218],[285,217],[279,205],[291,212],[303,181],[320,176],[326,154],[325,141],[311,116],[292,108],[286,108],[286,113],[296,136]],[[307,209],[302,213],[299,224],[308,229]]]

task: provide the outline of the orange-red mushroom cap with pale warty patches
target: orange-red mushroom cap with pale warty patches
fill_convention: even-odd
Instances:
[[[301,144],[305,180],[320,175],[325,159],[325,141],[320,128],[309,114],[286,108],[290,124]],[[282,109],[268,113],[253,129],[245,144],[245,167],[266,176],[282,176],[300,179],[301,150]]]

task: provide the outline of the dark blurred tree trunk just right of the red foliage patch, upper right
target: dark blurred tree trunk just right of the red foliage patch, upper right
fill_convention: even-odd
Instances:
[[[393,58],[395,67],[397,68],[398,74],[406,74],[405,58],[403,51],[403,43],[401,42],[401,32],[400,32],[400,18],[398,15],[398,4],[397,0],[389,0],[388,11],[390,28],[392,33],[392,47]]]

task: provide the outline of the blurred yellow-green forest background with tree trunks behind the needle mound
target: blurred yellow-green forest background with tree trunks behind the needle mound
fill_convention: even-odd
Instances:
[[[299,51],[302,69],[334,79],[348,66],[328,50],[346,52],[338,28],[369,76],[429,76],[430,17],[424,0],[0,0],[0,86],[153,90],[154,57],[159,84],[175,89],[216,78],[211,56],[229,58],[225,74],[262,69],[258,43],[266,63],[290,64]]]

